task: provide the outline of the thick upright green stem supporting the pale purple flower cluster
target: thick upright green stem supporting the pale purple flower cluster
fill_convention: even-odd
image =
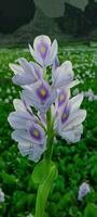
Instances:
[[[47,122],[47,151],[44,155],[45,163],[47,165],[47,168],[50,167],[51,158],[52,158],[52,152],[53,152],[53,140],[54,140],[54,132],[53,132],[53,120],[51,115],[51,110],[47,112],[46,115],[46,122]],[[56,177],[57,169],[56,166],[53,165],[51,168],[48,168],[48,174],[43,181],[39,186],[38,189],[38,195],[37,195],[37,203],[36,203],[36,217],[45,217],[45,207],[47,197],[50,194],[50,191],[52,189],[54,179]]]

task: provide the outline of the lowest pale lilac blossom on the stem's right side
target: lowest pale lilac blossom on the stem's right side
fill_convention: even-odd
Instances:
[[[83,100],[82,93],[70,100],[67,99],[68,97],[66,98],[66,103],[64,102],[63,104],[63,108],[60,106],[57,108],[55,129],[68,143],[74,143],[80,141],[83,132],[82,122],[86,117],[86,111],[80,110]],[[57,104],[59,104],[59,99]]]

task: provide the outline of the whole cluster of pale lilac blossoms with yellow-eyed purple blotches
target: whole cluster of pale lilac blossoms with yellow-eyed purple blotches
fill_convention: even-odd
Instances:
[[[70,88],[79,81],[74,80],[70,61],[59,64],[57,41],[52,43],[47,36],[39,36],[29,49],[36,62],[20,58],[18,64],[10,64],[14,72],[13,82],[23,90],[20,99],[13,102],[15,112],[8,119],[14,128],[12,138],[18,142],[22,155],[38,162],[47,149],[48,112],[54,136],[58,133],[68,143],[74,143],[83,132],[86,111],[80,108],[82,93],[70,99]],[[51,82],[46,76],[47,67],[52,71]]]

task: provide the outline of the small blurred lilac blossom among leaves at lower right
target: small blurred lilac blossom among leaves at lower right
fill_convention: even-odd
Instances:
[[[82,201],[83,197],[85,197],[87,195],[87,193],[91,192],[91,188],[89,188],[89,184],[86,183],[86,182],[83,182],[81,186],[80,186],[80,189],[79,189],[79,195],[78,195],[78,200],[79,201]]]

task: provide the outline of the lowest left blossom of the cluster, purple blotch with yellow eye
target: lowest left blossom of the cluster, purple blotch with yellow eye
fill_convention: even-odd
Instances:
[[[18,105],[19,104],[19,105]],[[23,156],[38,162],[46,149],[46,136],[40,122],[22,100],[14,101],[16,111],[9,115],[9,123],[14,128],[12,139],[18,142],[18,149]]]

